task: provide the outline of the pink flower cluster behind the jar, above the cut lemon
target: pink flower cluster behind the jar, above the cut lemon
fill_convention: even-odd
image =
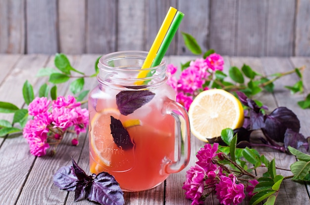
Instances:
[[[224,60],[217,53],[212,53],[206,59],[198,58],[191,61],[188,68],[182,71],[177,80],[174,76],[177,68],[173,64],[167,65],[167,83],[176,91],[176,101],[189,109],[193,98],[202,90],[208,89],[208,84],[215,71],[223,70]]]

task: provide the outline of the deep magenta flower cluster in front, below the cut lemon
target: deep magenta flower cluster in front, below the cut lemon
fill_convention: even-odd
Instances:
[[[198,161],[186,174],[183,189],[187,199],[192,200],[192,205],[200,205],[206,197],[215,192],[220,204],[237,205],[245,198],[245,192],[253,196],[253,190],[258,184],[256,179],[246,181],[245,184],[228,168],[219,163],[224,160],[225,154],[218,152],[218,144],[206,144],[201,148],[196,157]],[[246,188],[245,188],[246,187]]]

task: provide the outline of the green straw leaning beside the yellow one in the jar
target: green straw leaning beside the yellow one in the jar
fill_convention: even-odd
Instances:
[[[168,29],[168,32],[165,36],[165,38],[163,39],[158,51],[157,51],[157,54],[156,54],[156,57],[151,65],[151,68],[152,67],[155,67],[155,66],[158,66],[162,60],[162,58],[164,57],[165,53],[167,52],[168,50],[168,47],[176,33],[176,31],[178,30],[179,28],[179,25],[182,21],[184,17],[184,13],[178,11],[171,23],[171,26],[169,27]]]

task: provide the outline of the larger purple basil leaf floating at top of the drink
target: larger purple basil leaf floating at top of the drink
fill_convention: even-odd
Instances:
[[[116,105],[122,115],[129,115],[150,102],[155,93],[149,90],[120,91],[116,95]]]

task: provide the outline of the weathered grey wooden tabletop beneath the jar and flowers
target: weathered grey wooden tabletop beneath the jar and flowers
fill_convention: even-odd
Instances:
[[[68,56],[72,66],[87,74],[94,73],[94,63],[99,55],[70,55]],[[180,62],[185,63],[193,56],[169,56],[168,63],[176,66]],[[260,93],[257,99],[261,100],[272,111],[278,106],[286,106],[291,109],[301,121],[301,133],[310,136],[310,110],[302,110],[297,102],[303,100],[310,91],[310,58],[292,57],[224,57],[225,70],[230,66],[241,67],[244,63],[250,65],[255,71],[265,74],[285,72],[295,67],[307,66],[304,73],[305,94],[292,95],[284,88],[285,85],[293,85],[297,82],[297,76],[290,75],[275,82],[274,93]],[[53,56],[32,55],[0,55],[0,101],[10,102],[18,107],[24,107],[22,96],[23,83],[28,80],[33,86],[35,96],[39,87],[47,82],[47,78],[37,78],[35,74],[40,68],[54,67]],[[87,79],[85,89],[91,89],[97,84],[96,79]],[[70,94],[69,84],[58,86],[58,95]],[[12,121],[12,114],[0,113],[0,119]],[[59,190],[53,185],[52,176],[62,166],[71,165],[70,157],[85,170],[89,165],[88,133],[80,134],[79,145],[71,146],[70,134],[58,146],[56,154],[44,157],[34,157],[29,152],[29,147],[21,134],[9,135],[0,138],[0,205],[91,205],[86,200],[74,203],[74,192]],[[192,158],[190,164],[183,171],[170,175],[165,183],[156,188],[144,192],[124,193],[126,205],[190,205],[182,190],[186,170],[196,162],[195,153],[204,143],[192,137]],[[296,161],[294,156],[273,151],[271,149],[258,148],[260,154],[264,154],[269,160],[275,158],[276,164],[282,168]],[[88,172],[89,173],[89,172]],[[279,170],[278,174],[291,175],[289,171]],[[310,186],[304,183],[296,183],[285,180],[278,193],[276,205],[310,205]],[[218,205],[216,196],[207,198],[205,205]],[[248,205],[244,201],[243,205]],[[262,203],[260,204],[262,205]]]

